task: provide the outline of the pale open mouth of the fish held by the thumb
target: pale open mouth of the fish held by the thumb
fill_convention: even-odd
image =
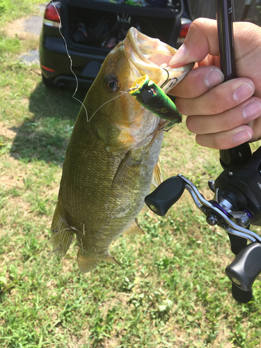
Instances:
[[[194,65],[189,63],[181,68],[171,68],[169,62],[177,49],[140,33],[134,27],[129,29],[123,45],[125,55],[133,65],[130,79],[135,81],[147,74],[158,86],[164,85],[165,92],[180,82]]]

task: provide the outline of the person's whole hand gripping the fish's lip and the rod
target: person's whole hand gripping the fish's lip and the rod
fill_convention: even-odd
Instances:
[[[197,143],[209,148],[233,148],[261,137],[261,28],[234,23],[234,42],[237,79],[223,84],[215,20],[196,19],[170,63],[179,68],[199,62],[170,94],[177,96],[177,109],[188,116]]]

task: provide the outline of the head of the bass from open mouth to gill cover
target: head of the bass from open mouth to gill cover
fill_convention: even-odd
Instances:
[[[193,63],[171,68],[177,50],[132,27],[125,40],[108,54],[84,104],[88,118],[106,150],[121,153],[139,145],[162,120],[145,109],[129,90],[145,74],[166,91],[193,68]]]

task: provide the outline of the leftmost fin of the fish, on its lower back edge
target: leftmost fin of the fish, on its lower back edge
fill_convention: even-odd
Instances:
[[[54,246],[54,252],[59,258],[63,258],[72,244],[74,232],[70,229],[63,214],[61,197],[58,198],[51,230],[51,242]]]

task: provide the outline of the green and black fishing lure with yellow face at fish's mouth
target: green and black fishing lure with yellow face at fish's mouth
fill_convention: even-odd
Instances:
[[[151,81],[148,75],[136,79],[132,88],[129,88],[129,93],[134,95],[142,106],[160,118],[173,123],[182,122],[182,114],[177,110],[171,98],[155,82]]]

